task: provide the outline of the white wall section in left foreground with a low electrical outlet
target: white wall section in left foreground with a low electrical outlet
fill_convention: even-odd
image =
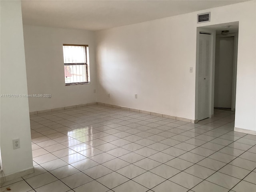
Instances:
[[[27,94],[20,1],[0,1],[1,94]],[[0,147],[6,176],[33,168],[28,98],[0,98]],[[12,140],[20,138],[20,148]]]

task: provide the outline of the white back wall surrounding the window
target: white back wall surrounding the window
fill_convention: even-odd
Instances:
[[[30,112],[97,101],[93,32],[24,26],[24,44],[28,94],[52,94],[52,98],[29,98]],[[90,84],[65,86],[63,44],[89,45]]]

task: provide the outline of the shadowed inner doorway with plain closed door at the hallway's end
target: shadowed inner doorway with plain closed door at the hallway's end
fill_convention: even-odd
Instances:
[[[216,33],[214,108],[234,111],[236,101],[236,67],[238,32]]]

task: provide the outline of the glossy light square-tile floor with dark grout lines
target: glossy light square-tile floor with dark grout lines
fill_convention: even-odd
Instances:
[[[234,113],[191,124],[92,105],[30,116],[33,174],[12,192],[255,192],[256,136]]]

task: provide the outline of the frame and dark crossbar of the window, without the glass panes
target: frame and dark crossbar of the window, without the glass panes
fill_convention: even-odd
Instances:
[[[70,65],[84,65],[85,66],[85,73],[86,73],[86,82],[66,83],[66,79],[65,79],[65,86],[90,84],[89,46],[88,45],[81,45],[81,44],[62,44],[63,58],[64,58],[64,51],[63,51],[63,47],[64,46],[81,46],[81,47],[85,47],[85,58],[86,58],[86,62],[85,63],[65,63],[65,62],[63,62],[64,63],[64,67],[65,66],[70,66]],[[66,78],[65,72],[64,72],[64,78]]]

